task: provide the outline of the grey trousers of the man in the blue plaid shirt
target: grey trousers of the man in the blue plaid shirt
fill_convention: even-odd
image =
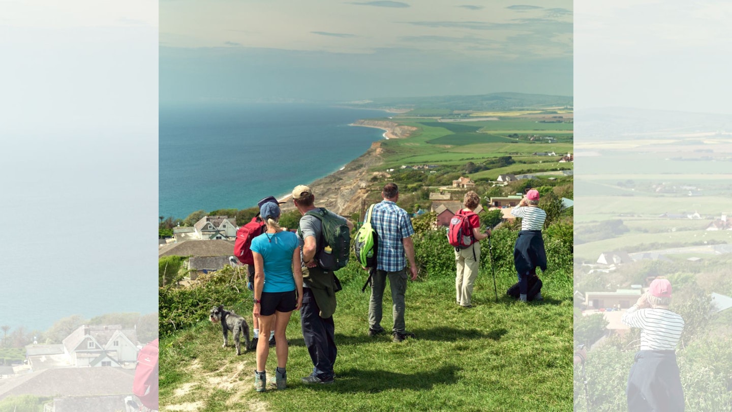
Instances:
[[[381,303],[384,300],[386,278],[392,289],[392,316],[394,317],[393,332],[403,332],[404,325],[404,293],[407,290],[407,272],[405,269],[396,272],[376,270],[371,278],[371,299],[368,304],[369,328],[381,331]]]

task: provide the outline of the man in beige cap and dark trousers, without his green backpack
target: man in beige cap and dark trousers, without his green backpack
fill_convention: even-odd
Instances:
[[[313,361],[313,373],[302,378],[303,383],[333,383],[333,365],[337,348],[335,346],[335,276],[318,266],[317,252],[325,247],[321,220],[312,214],[313,210],[326,211],[315,207],[315,196],[310,187],[298,185],[292,191],[295,207],[302,214],[297,230],[302,253],[302,308],[300,324],[302,338]],[[312,213],[312,212],[311,212]],[[332,213],[332,212],[329,212]],[[335,213],[333,213],[335,214]],[[337,215],[336,215],[337,216]],[[354,225],[343,219],[348,229]]]

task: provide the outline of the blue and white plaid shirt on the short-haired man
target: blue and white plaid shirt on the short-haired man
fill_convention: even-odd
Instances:
[[[395,202],[383,200],[373,207],[371,226],[378,234],[376,268],[387,272],[401,271],[407,265],[402,239],[414,235],[406,210]]]

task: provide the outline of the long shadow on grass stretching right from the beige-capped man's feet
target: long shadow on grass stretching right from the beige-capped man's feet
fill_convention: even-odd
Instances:
[[[459,367],[449,366],[428,372],[401,373],[393,370],[338,370],[332,385],[307,385],[321,391],[353,394],[365,392],[375,394],[389,389],[430,390],[435,385],[456,383]],[[303,384],[305,386],[305,384]]]

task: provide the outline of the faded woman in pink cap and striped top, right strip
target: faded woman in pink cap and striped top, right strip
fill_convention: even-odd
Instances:
[[[684,319],[668,310],[671,282],[654,279],[622,317],[624,324],[641,329],[641,350],[635,354],[626,389],[628,411],[684,411],[676,345]]]

